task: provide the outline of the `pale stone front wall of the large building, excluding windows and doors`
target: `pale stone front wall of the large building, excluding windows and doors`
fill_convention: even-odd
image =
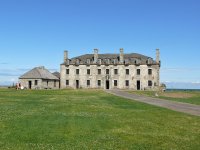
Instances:
[[[109,80],[109,89],[137,89],[137,81],[140,81],[140,90],[156,89],[159,86],[159,65],[61,65],[61,88],[76,88],[77,81],[79,88],[101,88],[106,89],[106,81]],[[66,74],[69,69],[69,74]],[[79,69],[79,75],[76,74]],[[87,74],[90,69],[90,75]],[[101,69],[101,74],[98,74]],[[109,75],[106,75],[106,69],[109,69]],[[114,74],[114,69],[118,70],[118,74]],[[129,75],[126,75],[126,69],[129,69]],[[140,69],[140,75],[137,75],[137,69]],[[148,74],[148,69],[152,69],[152,74]],[[66,85],[66,80],[69,85]],[[90,86],[87,86],[87,80],[90,80]],[[98,80],[101,86],[97,85]],[[117,86],[114,86],[114,80],[117,80]],[[125,80],[129,81],[129,86],[125,86]],[[148,81],[152,81],[152,86],[148,86]]]

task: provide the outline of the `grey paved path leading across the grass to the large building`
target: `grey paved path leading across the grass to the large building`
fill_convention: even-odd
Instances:
[[[168,109],[179,111],[179,112],[184,112],[184,113],[195,115],[195,116],[200,116],[200,106],[198,105],[163,100],[159,98],[140,96],[140,95],[128,93],[122,90],[106,90],[106,92],[114,94],[116,96],[123,97],[123,98],[128,98],[131,100],[144,102],[151,105],[160,106],[160,107],[168,108]]]

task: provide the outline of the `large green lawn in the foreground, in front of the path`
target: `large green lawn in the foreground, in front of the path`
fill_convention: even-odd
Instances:
[[[98,90],[0,90],[0,149],[199,149],[200,117]]]

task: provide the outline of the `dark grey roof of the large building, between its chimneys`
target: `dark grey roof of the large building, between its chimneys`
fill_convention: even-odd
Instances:
[[[120,54],[98,54],[98,59],[101,59],[101,64],[106,64],[107,60],[109,60],[108,64],[118,64],[120,61]],[[78,57],[74,57],[69,59],[69,64],[76,64],[77,60],[79,60],[79,64],[87,64],[88,60],[90,64],[94,63],[94,54],[85,54]],[[61,65],[66,65],[67,62],[62,63]],[[124,64],[157,64],[153,58],[141,55],[138,53],[130,53],[124,54]]]

